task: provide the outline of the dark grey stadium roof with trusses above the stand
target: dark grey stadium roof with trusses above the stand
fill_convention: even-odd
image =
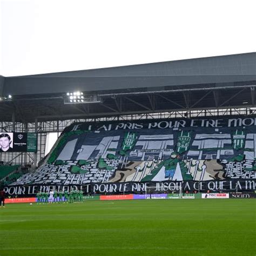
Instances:
[[[255,105],[256,53],[116,68],[0,77],[2,120],[33,122]],[[66,92],[98,103],[64,104]]]

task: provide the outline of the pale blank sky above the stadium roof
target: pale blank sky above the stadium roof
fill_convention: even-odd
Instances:
[[[255,52],[256,2],[1,0],[0,75]]]

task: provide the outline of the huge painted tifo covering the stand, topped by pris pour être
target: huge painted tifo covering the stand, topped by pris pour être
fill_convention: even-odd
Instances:
[[[75,123],[12,185],[255,179],[256,118]]]

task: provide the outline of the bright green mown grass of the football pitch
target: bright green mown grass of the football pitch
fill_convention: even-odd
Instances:
[[[253,255],[254,199],[0,208],[0,255]]]

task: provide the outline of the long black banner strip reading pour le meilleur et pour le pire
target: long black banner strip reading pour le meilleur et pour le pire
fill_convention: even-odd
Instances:
[[[254,191],[255,180],[159,181],[127,183],[93,183],[87,185],[13,185],[6,186],[8,196],[35,196],[37,192],[82,190],[84,194],[163,194],[206,191]]]

